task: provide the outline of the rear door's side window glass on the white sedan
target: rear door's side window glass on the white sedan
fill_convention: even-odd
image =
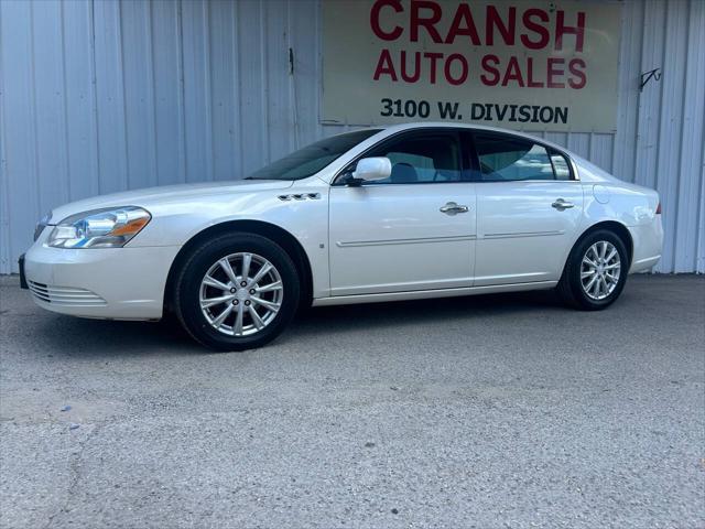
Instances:
[[[571,180],[567,160],[532,141],[478,134],[475,149],[482,182]]]

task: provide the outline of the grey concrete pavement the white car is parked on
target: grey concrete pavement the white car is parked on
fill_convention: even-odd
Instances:
[[[242,354],[2,278],[0,527],[704,527],[703,344],[693,276],[313,310]]]

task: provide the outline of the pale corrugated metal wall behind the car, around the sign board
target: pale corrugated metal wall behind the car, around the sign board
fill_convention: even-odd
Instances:
[[[339,131],[319,35],[316,0],[1,0],[0,272],[53,206],[239,177]],[[704,94],[705,2],[628,1],[617,133],[539,132],[659,190],[664,272],[705,271]]]

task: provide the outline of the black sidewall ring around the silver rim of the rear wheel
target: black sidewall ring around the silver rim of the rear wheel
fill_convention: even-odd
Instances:
[[[617,249],[621,263],[621,270],[615,290],[604,300],[594,300],[588,296],[587,293],[583,290],[583,284],[581,283],[581,268],[585,252],[590,246],[600,240],[610,242]],[[575,247],[573,255],[571,256],[571,266],[567,269],[567,279],[571,285],[573,298],[582,309],[588,311],[598,311],[611,305],[617,300],[617,298],[619,298],[622,289],[625,288],[627,276],[629,273],[629,267],[630,262],[629,256],[627,255],[627,248],[617,235],[604,229],[589,234],[587,237],[581,240],[581,242]]]

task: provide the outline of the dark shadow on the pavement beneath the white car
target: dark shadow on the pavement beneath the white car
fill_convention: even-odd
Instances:
[[[511,316],[518,313],[564,311],[552,291],[485,294],[462,298],[399,301],[312,307],[296,317],[276,344],[300,338],[325,337],[327,332],[359,328],[443,325],[475,317]],[[181,327],[174,317],[161,322],[86,320],[51,315],[36,323],[32,341],[66,356],[112,357],[209,354]]]

